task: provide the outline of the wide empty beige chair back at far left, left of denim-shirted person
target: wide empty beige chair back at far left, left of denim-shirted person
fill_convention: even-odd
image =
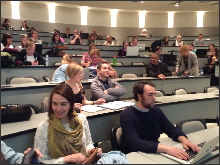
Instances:
[[[6,79],[6,84],[23,84],[23,83],[36,83],[39,79],[35,76],[27,77],[8,77]]]

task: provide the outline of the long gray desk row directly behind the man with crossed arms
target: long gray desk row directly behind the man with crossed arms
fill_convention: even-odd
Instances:
[[[172,76],[166,80],[151,77],[138,78],[116,78],[125,89],[126,94],[121,98],[133,97],[132,87],[140,80],[149,80],[156,85],[156,89],[164,90],[165,94],[172,94],[173,89],[185,88],[187,92],[204,92],[204,87],[210,86],[210,76]],[[83,88],[86,92],[86,98],[90,100],[91,89],[89,81],[82,81]],[[10,84],[1,85],[1,104],[36,104],[41,107],[42,100],[49,96],[50,92],[57,83],[39,82],[27,84]]]

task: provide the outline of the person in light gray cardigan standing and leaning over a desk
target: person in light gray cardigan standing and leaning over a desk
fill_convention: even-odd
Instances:
[[[199,75],[198,60],[195,53],[189,51],[189,46],[183,45],[180,47],[180,55],[176,65],[177,75]]]

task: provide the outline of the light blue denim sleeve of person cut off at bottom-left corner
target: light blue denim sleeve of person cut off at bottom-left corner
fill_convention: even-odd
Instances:
[[[1,152],[9,164],[21,164],[24,154],[16,153],[12,148],[6,146],[6,144],[1,141]]]

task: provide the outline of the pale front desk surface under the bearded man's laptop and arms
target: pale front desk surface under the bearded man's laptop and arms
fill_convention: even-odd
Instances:
[[[209,128],[206,130],[187,134],[188,139],[195,144],[199,144],[203,141],[211,140],[212,138],[214,138],[216,136],[219,136],[219,127]],[[178,142],[175,142],[172,139],[168,139],[166,141],[161,142],[161,144],[168,145],[168,146],[174,146],[174,145],[178,144]],[[205,159],[207,159],[208,157],[213,156],[218,153],[219,153],[219,151],[217,151],[215,153],[211,153],[211,154],[207,155],[205,158],[201,159],[199,162],[202,162]],[[141,156],[138,154],[140,154]],[[138,157],[139,159],[135,159],[136,157]],[[143,161],[145,164],[178,164],[177,162],[175,162],[173,160],[170,160],[166,157],[161,156],[159,153],[152,154],[152,153],[143,153],[143,152],[132,152],[132,153],[127,154],[127,158],[130,163],[136,163],[136,164],[141,164]],[[214,160],[210,160],[210,162],[212,162],[214,164],[218,164],[219,158],[215,158]]]

